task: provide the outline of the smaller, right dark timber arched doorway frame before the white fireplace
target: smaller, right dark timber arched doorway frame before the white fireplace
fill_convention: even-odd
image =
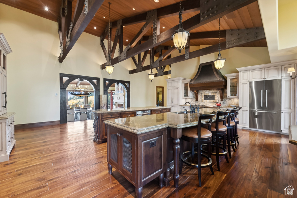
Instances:
[[[107,98],[108,98],[108,89],[113,84],[122,85],[122,87],[125,89],[125,92],[127,94],[127,101],[126,101],[127,105],[126,105],[126,107],[130,107],[130,81],[103,78],[103,94],[106,95]],[[108,102],[109,102],[109,100],[107,99],[106,100],[106,107],[107,108],[108,108]]]

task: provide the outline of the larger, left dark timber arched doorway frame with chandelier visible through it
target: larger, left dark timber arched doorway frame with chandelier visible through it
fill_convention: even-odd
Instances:
[[[64,77],[68,78],[64,82]],[[100,104],[100,78],[97,77],[89,77],[89,76],[81,76],[81,75],[73,75],[73,74],[61,74],[60,73],[60,123],[64,124],[67,123],[67,90],[69,83],[73,80],[80,79],[80,81],[87,81],[90,83],[92,88],[94,89],[94,109],[99,109]],[[95,83],[95,82],[96,83]]]

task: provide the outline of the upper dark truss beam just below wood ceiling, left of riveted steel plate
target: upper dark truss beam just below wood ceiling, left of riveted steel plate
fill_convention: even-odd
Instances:
[[[199,11],[200,9],[200,0],[186,0],[181,2],[181,6],[184,7],[183,13]],[[178,15],[179,13],[179,2],[176,4],[168,5],[165,7],[161,7],[157,10],[157,18],[165,18],[174,15]],[[152,10],[151,10],[152,11]],[[150,11],[148,11],[150,12]],[[146,22],[146,13],[142,13],[139,15],[135,15],[129,18],[123,19],[123,26],[128,26],[132,24]],[[112,23],[112,28],[116,27],[116,22]]]

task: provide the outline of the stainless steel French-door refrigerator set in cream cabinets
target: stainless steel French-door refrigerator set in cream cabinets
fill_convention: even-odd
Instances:
[[[281,79],[249,82],[249,128],[281,132]]]

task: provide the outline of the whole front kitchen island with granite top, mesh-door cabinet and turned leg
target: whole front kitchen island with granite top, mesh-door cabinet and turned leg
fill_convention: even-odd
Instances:
[[[217,110],[205,108],[199,113]],[[164,182],[168,186],[173,168],[174,187],[178,188],[181,129],[198,125],[199,113],[162,113],[104,121],[108,173],[112,174],[112,168],[118,170],[141,197],[142,186],[157,177],[161,188]]]

